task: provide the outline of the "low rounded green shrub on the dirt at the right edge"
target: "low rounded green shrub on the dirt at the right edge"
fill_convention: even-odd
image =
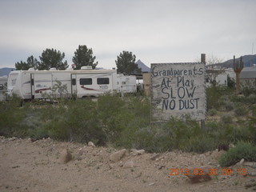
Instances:
[[[250,142],[238,142],[234,148],[222,155],[219,159],[219,164],[221,166],[232,166],[242,158],[250,162],[256,161],[256,147]]]

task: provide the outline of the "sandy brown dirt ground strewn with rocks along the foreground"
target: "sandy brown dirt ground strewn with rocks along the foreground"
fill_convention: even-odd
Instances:
[[[61,162],[61,152],[68,149],[70,162]],[[139,150],[139,149],[138,149]],[[92,147],[50,138],[0,138],[0,191],[253,191],[256,168],[253,165],[229,167],[223,175],[218,157],[223,152],[134,155],[130,152],[118,162],[110,162],[111,147]],[[124,166],[132,162],[131,166]],[[191,183],[183,174],[170,175],[170,169],[210,166],[218,170],[207,182]],[[238,169],[246,169],[246,175]],[[255,185],[255,186],[254,186]]]

